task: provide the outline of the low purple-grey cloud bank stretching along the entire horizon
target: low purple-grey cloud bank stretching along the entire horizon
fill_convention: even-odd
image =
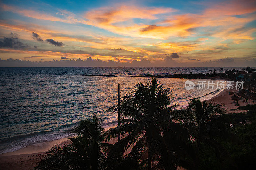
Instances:
[[[27,58],[38,58],[39,56],[30,56]],[[47,56],[41,56],[47,57]],[[192,58],[191,58],[192,59]],[[92,59],[88,57],[86,60],[83,59],[67,59],[67,60],[51,60],[51,61],[42,61],[43,58],[38,58],[40,61],[29,61],[29,60],[19,60],[19,59],[12,59],[9,58],[7,60],[1,60],[0,58],[0,67],[87,67],[87,66],[101,66],[101,67],[114,67],[114,66],[188,66],[188,67],[255,67],[256,60],[244,60],[244,58],[236,58],[236,62],[229,62],[229,63],[218,63],[213,62],[212,60],[206,62],[191,62],[184,65],[184,63],[179,63],[172,59],[171,56],[167,56],[164,60],[151,63],[150,60],[133,60],[132,62],[122,63],[119,61],[108,60],[103,61],[101,59]],[[124,59],[125,60],[125,59]],[[187,59],[186,59],[187,60]],[[224,59],[221,59],[224,60]],[[199,61],[199,60],[197,60]],[[221,66],[220,66],[221,65]]]

